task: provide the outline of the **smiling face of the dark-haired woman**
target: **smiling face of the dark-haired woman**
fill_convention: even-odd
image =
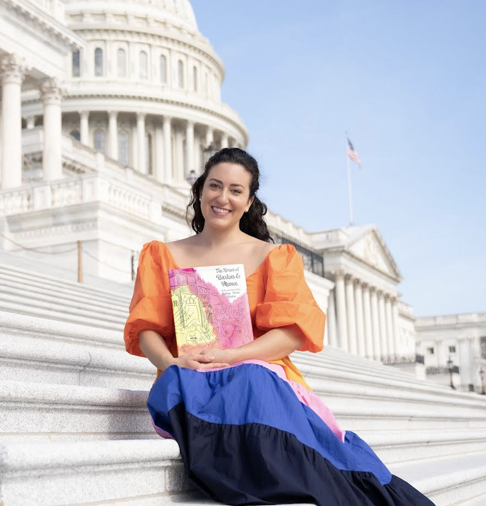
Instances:
[[[206,223],[226,228],[239,220],[250,208],[252,175],[237,163],[218,163],[210,168],[201,191],[201,212]]]

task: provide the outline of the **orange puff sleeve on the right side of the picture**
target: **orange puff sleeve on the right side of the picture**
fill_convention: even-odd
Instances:
[[[265,297],[257,305],[255,323],[260,330],[294,325],[305,338],[299,351],[323,349],[326,314],[317,305],[304,278],[304,262],[292,244],[272,250],[267,263]]]

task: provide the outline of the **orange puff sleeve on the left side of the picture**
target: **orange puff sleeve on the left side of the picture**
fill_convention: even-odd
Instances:
[[[124,329],[128,353],[145,357],[139,346],[138,333],[150,329],[163,336],[174,355],[175,332],[169,277],[164,270],[163,255],[156,241],[144,244],[140,251],[129,310]]]

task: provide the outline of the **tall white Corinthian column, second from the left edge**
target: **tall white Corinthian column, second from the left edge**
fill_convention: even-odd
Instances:
[[[62,178],[62,120],[61,100],[65,89],[58,79],[46,79],[41,86],[41,100],[44,102],[44,153],[42,168],[44,181]]]

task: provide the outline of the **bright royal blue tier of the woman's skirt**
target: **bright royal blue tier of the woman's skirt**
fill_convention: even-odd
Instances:
[[[368,444],[352,432],[340,441],[326,423],[300,402],[291,386],[273,371],[241,364],[197,372],[168,367],[152,386],[147,407],[157,427],[175,437],[169,411],[183,403],[185,411],[211,424],[262,424],[293,434],[341,470],[372,472],[380,483],[391,473]]]

